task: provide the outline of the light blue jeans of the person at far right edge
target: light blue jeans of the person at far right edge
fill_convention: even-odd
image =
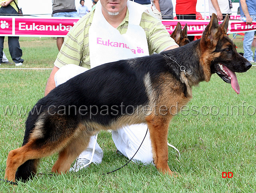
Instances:
[[[251,15],[252,21],[256,22],[256,15]],[[254,38],[253,32],[244,33],[244,58],[248,61],[253,60],[253,52],[252,52],[252,41]],[[256,62],[256,50],[254,52],[254,62]]]

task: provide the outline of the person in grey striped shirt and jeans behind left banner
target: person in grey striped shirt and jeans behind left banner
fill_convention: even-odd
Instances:
[[[52,17],[79,18],[75,0],[52,0]],[[63,37],[57,37],[56,43],[59,51],[63,42]]]

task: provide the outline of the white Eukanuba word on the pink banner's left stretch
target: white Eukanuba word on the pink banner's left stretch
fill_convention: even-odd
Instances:
[[[36,25],[32,23],[32,25],[27,25],[26,23],[19,23],[19,30],[24,31],[69,31],[72,26],[63,26],[62,24],[56,25]]]

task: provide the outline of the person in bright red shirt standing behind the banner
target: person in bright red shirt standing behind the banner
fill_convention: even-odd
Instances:
[[[197,0],[176,0],[176,16],[178,20],[195,20],[196,19]],[[188,36],[191,41],[194,36]]]

